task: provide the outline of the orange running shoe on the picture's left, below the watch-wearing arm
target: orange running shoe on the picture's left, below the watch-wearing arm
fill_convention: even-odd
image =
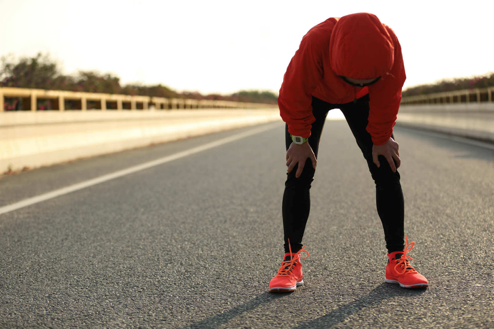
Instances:
[[[291,252],[290,242],[288,241],[288,249],[281,262],[278,274],[269,282],[269,291],[272,292],[288,292],[293,291],[297,287],[302,286],[304,281],[302,280],[302,264],[300,258],[309,257],[309,252],[300,248],[297,252]],[[307,252],[307,256],[302,257],[300,254],[302,251]]]

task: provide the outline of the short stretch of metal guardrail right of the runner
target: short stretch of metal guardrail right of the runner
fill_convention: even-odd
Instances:
[[[480,103],[494,101],[494,87],[462,89],[437,92],[426,95],[402,97],[401,105],[412,104],[447,104],[447,103]]]

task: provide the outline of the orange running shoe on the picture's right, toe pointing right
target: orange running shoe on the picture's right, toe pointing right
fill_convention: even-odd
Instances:
[[[427,288],[429,282],[423,275],[418,273],[409,263],[407,255],[412,250],[414,242],[408,243],[408,237],[405,240],[405,251],[394,251],[388,253],[388,265],[386,266],[387,283],[399,284],[403,288]],[[408,248],[410,246],[410,249]]]

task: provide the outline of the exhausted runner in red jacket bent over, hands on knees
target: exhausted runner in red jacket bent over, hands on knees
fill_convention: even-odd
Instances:
[[[376,188],[377,213],[388,249],[385,281],[404,288],[429,283],[409,263],[398,143],[393,126],[405,82],[395,33],[370,13],[329,18],[300,42],[280,89],[285,125],[287,181],[283,194],[285,255],[269,283],[273,292],[303,284],[300,260],[308,257],[302,237],[309,217],[310,188],[328,111],[341,110],[367,161]]]

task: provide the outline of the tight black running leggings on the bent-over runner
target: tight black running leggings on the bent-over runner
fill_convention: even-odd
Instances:
[[[371,134],[366,127],[369,117],[369,94],[356,101],[345,104],[329,104],[312,97],[312,113],[316,121],[312,123],[309,144],[317,158],[319,140],[323,131],[329,110],[338,108],[359,145],[364,158],[367,160],[371,176],[375,182],[377,213],[381,218],[384,229],[384,239],[388,252],[403,251],[404,248],[404,201],[400,184],[400,174],[393,172],[384,156],[379,156],[378,168],[372,161]],[[287,151],[291,144],[288,125],[285,127]],[[393,136],[394,138],[394,136]],[[298,165],[287,173],[285,193],[283,194],[283,229],[285,233],[285,252],[288,252],[290,239],[292,252],[302,247],[302,237],[305,231],[310,210],[310,187],[314,180],[315,169],[312,161],[307,159],[299,178],[295,177]]]

